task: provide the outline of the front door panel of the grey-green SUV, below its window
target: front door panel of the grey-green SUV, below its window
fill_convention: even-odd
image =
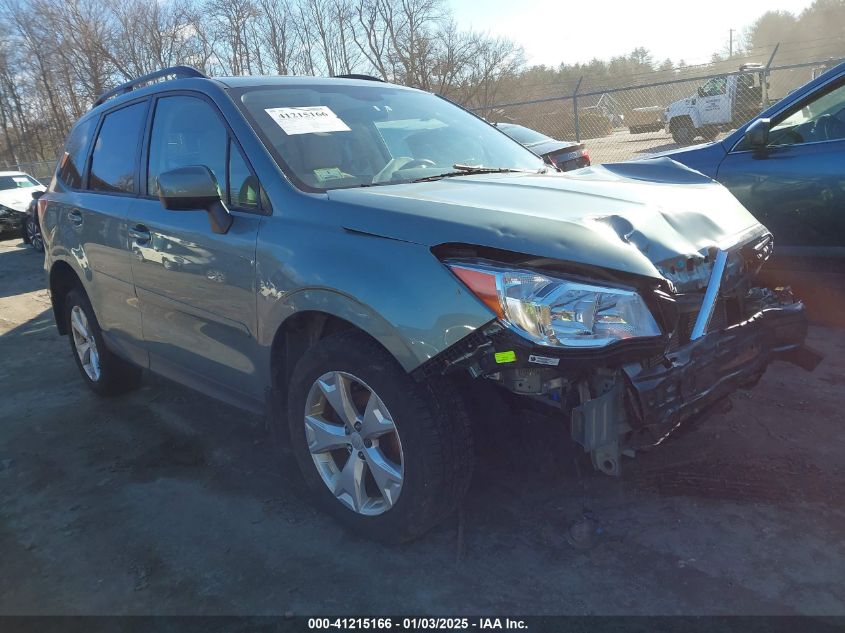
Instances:
[[[260,399],[254,259],[260,221],[239,213],[218,235],[202,211],[136,201],[129,224],[149,234],[131,240],[131,260],[150,369]]]

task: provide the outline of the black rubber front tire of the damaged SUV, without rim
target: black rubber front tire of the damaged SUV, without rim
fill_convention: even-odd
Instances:
[[[363,380],[390,412],[400,438],[402,489],[395,504],[376,516],[343,505],[324,483],[308,450],[308,393],[318,378],[332,371]],[[416,382],[361,332],[327,337],[299,360],[288,385],[287,419],[290,449],[315,503],[367,538],[398,543],[421,536],[457,508],[469,487],[475,454],[460,395],[445,381]]]

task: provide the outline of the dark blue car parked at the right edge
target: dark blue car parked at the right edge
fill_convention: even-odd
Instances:
[[[774,234],[761,276],[845,323],[845,63],[715,143],[666,152],[725,185]]]

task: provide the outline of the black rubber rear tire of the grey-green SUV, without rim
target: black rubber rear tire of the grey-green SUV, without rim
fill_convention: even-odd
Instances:
[[[74,307],[78,306],[87,319],[87,326],[94,338],[99,356],[99,377],[94,379],[88,375],[76,351],[76,338],[73,333],[72,315]],[[88,300],[88,295],[80,288],[68,292],[64,301],[64,318],[67,325],[70,349],[82,379],[91,390],[101,396],[114,396],[135,389],[141,382],[141,368],[132,365],[111,352],[103,340],[100,324]]]

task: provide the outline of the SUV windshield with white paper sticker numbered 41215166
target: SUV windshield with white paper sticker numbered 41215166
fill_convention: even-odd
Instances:
[[[545,167],[491,125],[426,92],[333,84],[238,94],[279,165],[309,191],[410,182],[454,174],[456,165]]]

